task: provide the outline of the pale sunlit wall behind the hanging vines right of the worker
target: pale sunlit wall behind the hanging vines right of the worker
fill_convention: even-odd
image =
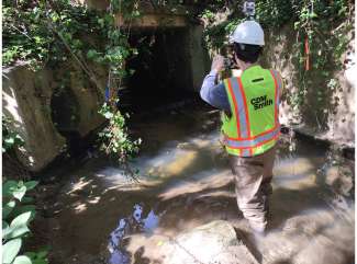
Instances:
[[[349,37],[349,46],[354,47],[352,32]],[[354,147],[356,79],[353,79],[352,72],[356,72],[356,66],[350,64],[346,65],[342,71],[328,71],[327,78],[334,78],[339,83],[339,88],[334,90],[325,84],[325,80],[317,77],[311,78],[312,81],[306,82],[303,105],[293,108],[289,105],[287,96],[298,93],[298,70],[292,61],[295,41],[292,25],[286,25],[277,32],[267,34],[267,45],[264,50],[263,64],[279,70],[285,79],[286,96],[281,102],[280,122],[306,135]],[[349,48],[342,56],[342,61],[346,60],[347,54],[352,54],[350,57],[355,56],[355,51]],[[326,95],[321,101],[317,100],[319,90],[326,90]]]

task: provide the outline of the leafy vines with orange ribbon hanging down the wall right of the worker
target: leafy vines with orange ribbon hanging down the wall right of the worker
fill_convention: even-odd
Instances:
[[[298,32],[295,61],[299,66],[299,90],[294,97],[291,96],[294,99],[291,103],[303,105],[308,88],[314,83],[321,87],[314,90],[314,110],[316,116],[324,118],[328,112],[334,113],[333,108],[327,110],[325,106],[328,105],[327,100],[332,93],[339,89],[334,79],[334,71],[342,70],[343,67],[342,55],[349,41],[347,33],[352,30],[347,19],[350,8],[349,2],[345,0],[305,0],[300,9],[294,7],[298,15],[294,30]]]

